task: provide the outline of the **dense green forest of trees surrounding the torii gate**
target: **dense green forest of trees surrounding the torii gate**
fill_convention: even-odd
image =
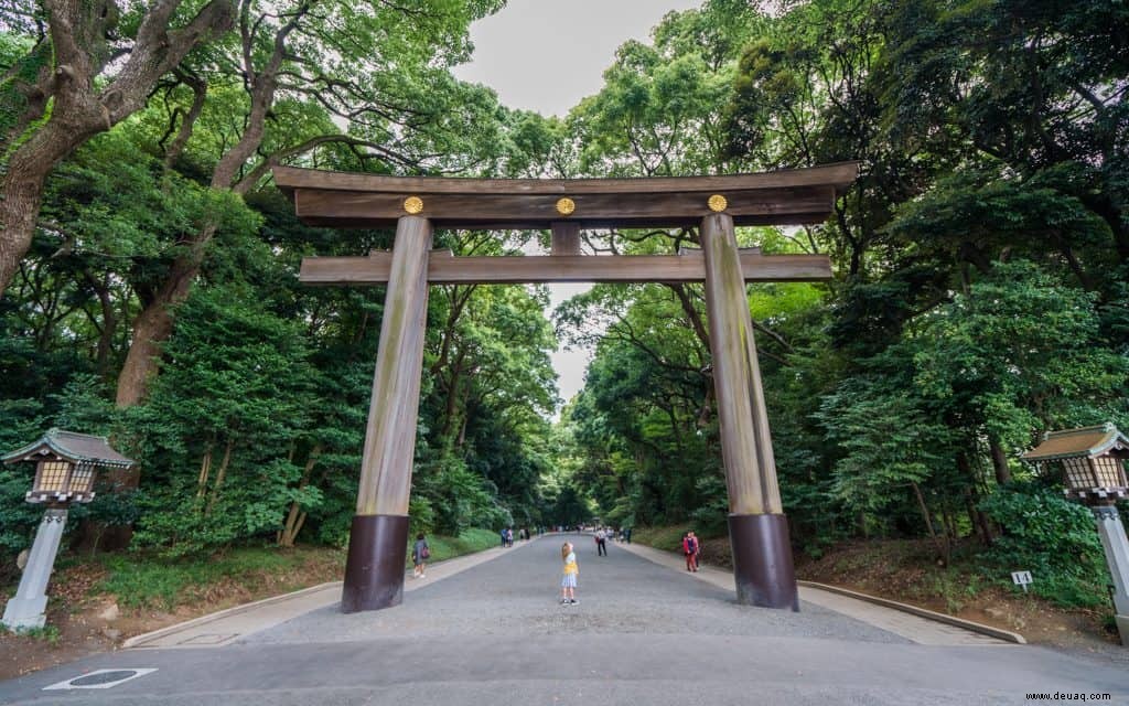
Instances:
[[[835,269],[749,288],[794,541],[928,538],[946,561],[972,538],[1001,564],[1093,575],[1088,513],[1018,454],[1049,429],[1129,427],[1129,7],[707,0],[623,44],[602,90],[559,119],[453,78],[470,23],[501,6],[0,2],[0,448],[51,426],[111,436],[140,472],[82,513],[132,524],[134,548],[340,544],[383,290],[296,273],[304,255],[392,234],[301,225],[270,167],[577,177],[858,160],[828,223],[738,233]],[[519,255],[546,238],[436,245]],[[584,234],[592,253],[697,239]],[[546,316],[548,302],[432,287],[412,522],[724,533],[701,288],[599,285]],[[568,401],[558,345],[595,350]],[[28,483],[0,471],[6,564],[37,521]]]

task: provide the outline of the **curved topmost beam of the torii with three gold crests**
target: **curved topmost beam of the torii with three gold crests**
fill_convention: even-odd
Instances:
[[[857,174],[857,162],[728,176],[577,180],[275,167],[274,182],[294,199],[298,217],[317,226],[392,226],[408,212],[436,228],[541,229],[561,220],[581,228],[638,228],[697,226],[711,212],[712,195],[724,197],[721,210],[738,226],[822,223]],[[413,198],[418,201],[405,207]]]

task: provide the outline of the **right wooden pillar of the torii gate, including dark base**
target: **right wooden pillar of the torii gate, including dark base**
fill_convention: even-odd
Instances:
[[[733,218],[707,216],[701,241],[737,602],[799,610]]]

